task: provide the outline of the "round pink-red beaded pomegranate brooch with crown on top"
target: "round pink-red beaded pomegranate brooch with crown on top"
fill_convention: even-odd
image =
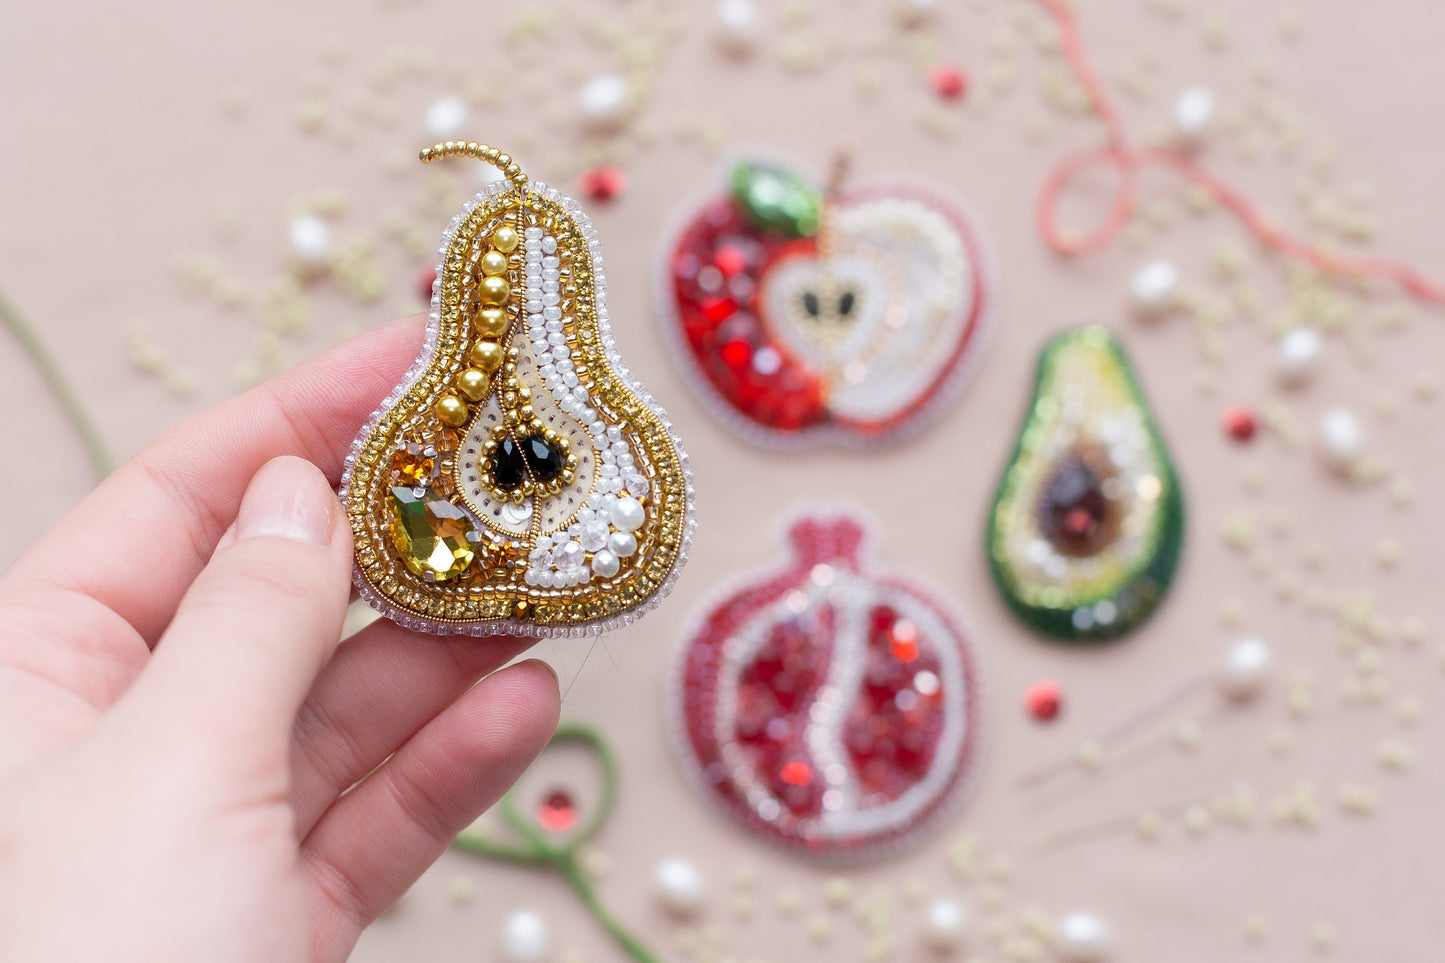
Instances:
[[[978,755],[958,619],[864,564],[853,518],[801,518],[792,560],[708,607],[673,667],[675,745],[702,794],[769,843],[883,855],[946,816]]]

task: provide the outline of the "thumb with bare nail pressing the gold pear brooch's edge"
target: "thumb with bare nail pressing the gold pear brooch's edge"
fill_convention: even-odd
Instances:
[[[124,709],[202,753],[285,766],[296,711],[341,638],[350,583],[351,532],[325,476],[302,458],[266,463]]]

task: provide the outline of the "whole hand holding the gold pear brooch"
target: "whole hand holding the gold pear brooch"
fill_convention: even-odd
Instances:
[[[168,432],[0,581],[0,960],[341,960],[546,745],[556,677],[494,671],[526,642],[337,646],[332,486],[419,341]]]

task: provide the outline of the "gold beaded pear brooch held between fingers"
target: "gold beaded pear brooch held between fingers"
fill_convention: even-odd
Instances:
[[[686,560],[686,454],[617,353],[577,202],[494,147],[420,159],[444,156],[504,179],[442,234],[422,353],[347,458],[355,584],[423,632],[603,632],[656,604]]]

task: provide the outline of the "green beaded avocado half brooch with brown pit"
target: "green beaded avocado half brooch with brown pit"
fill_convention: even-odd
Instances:
[[[1123,346],[1103,327],[1056,335],[988,523],[1009,607],[1069,641],[1123,635],[1163,599],[1183,495]]]

